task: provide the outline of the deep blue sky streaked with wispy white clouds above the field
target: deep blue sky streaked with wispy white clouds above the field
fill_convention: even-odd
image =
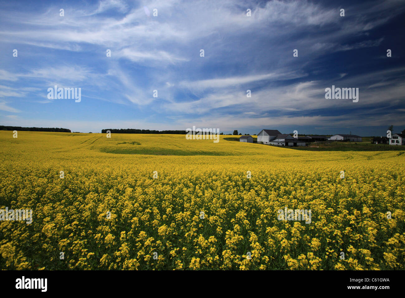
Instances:
[[[400,132],[404,15],[402,0],[3,1],[0,124]],[[48,99],[54,85],[81,102]],[[332,85],[359,101],[325,99]]]

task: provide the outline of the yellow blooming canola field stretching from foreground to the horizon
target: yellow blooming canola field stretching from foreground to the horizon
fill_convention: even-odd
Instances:
[[[224,137],[0,131],[0,269],[405,269],[403,151]]]

